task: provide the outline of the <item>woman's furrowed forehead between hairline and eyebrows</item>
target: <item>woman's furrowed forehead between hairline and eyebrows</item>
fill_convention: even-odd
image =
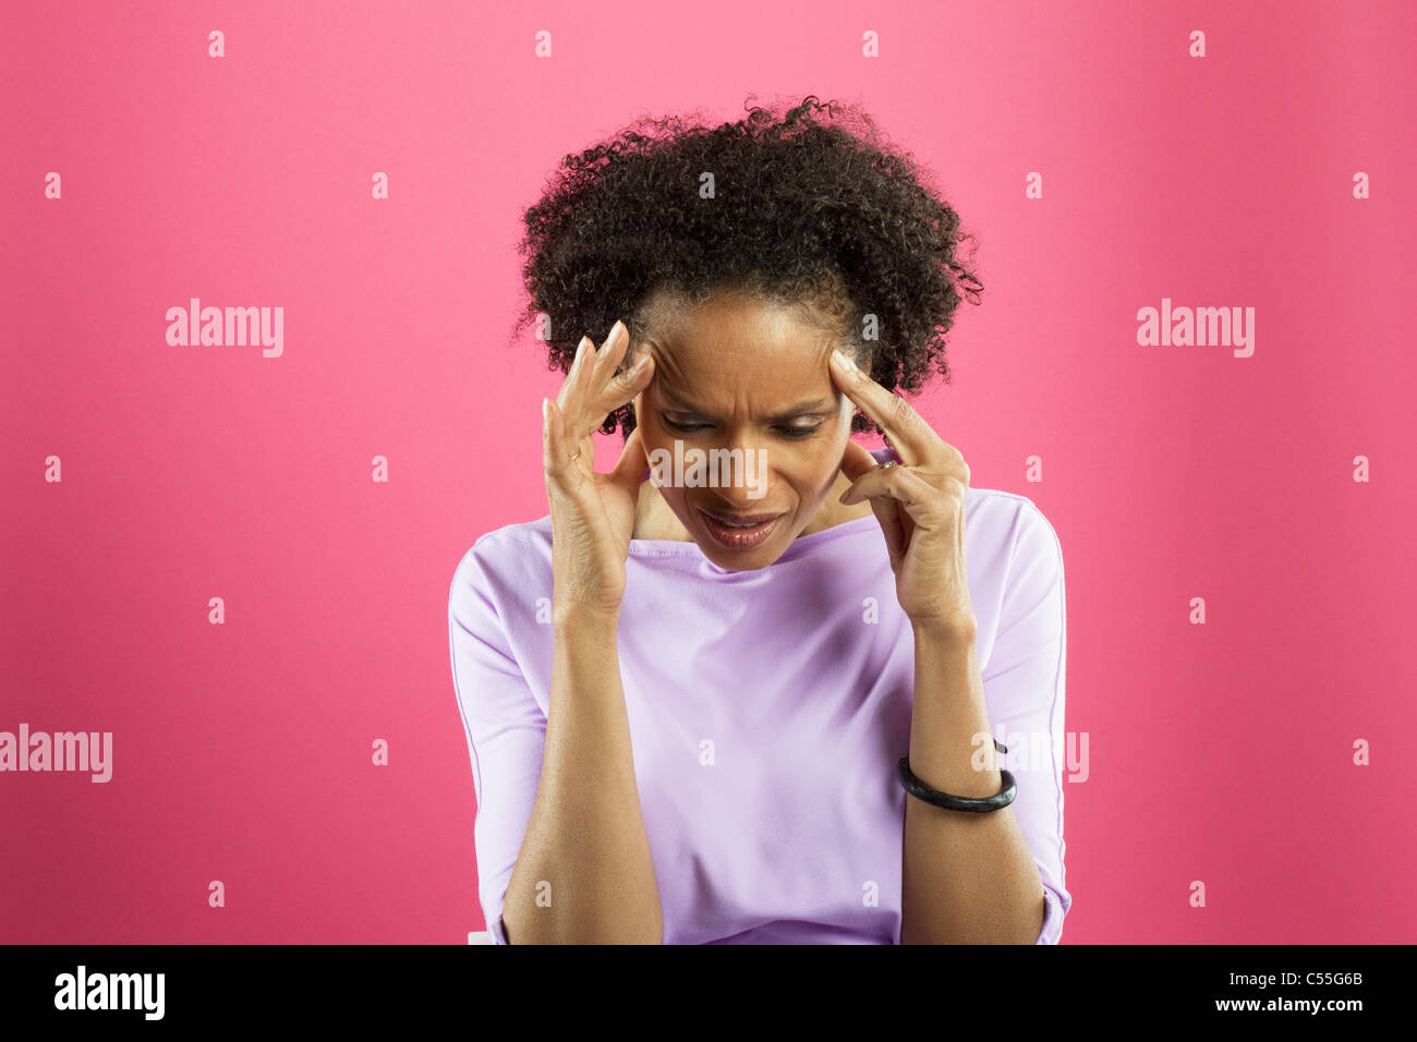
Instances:
[[[748,293],[666,302],[646,339],[656,363],[652,386],[669,404],[775,408],[808,396],[835,398],[826,359],[840,337],[799,305]]]

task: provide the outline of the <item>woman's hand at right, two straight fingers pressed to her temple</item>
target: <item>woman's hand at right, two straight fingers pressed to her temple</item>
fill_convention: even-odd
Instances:
[[[965,492],[969,465],[898,394],[881,387],[840,352],[832,379],[876,421],[900,464],[877,464],[856,441],[846,442],[842,471],[852,479],[843,503],[870,499],[886,533],[896,595],[915,627],[973,637],[975,615],[965,570]]]

